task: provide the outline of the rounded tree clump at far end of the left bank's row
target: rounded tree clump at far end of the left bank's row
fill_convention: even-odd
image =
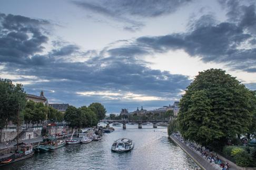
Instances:
[[[101,103],[92,103],[81,108],[69,106],[65,112],[64,120],[72,127],[90,127],[97,125],[99,120],[105,118],[106,109]]]

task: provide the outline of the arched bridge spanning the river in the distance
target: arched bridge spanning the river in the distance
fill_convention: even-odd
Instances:
[[[141,129],[142,128],[142,124],[145,122],[150,122],[153,123],[153,127],[156,128],[157,127],[157,123],[159,122],[166,122],[168,123],[168,120],[137,120],[137,121],[130,121],[130,120],[101,120],[99,123],[107,123],[107,124],[111,124],[111,123],[122,123],[123,124],[123,129],[126,129],[126,123],[137,123],[138,124],[138,128]]]

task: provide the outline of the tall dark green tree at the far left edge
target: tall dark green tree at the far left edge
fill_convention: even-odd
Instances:
[[[12,83],[11,80],[0,79],[0,130],[2,141],[2,130],[9,121],[17,122],[17,112],[25,107],[26,95],[22,84]]]

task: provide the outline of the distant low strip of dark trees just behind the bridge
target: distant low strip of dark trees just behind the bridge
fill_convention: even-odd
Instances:
[[[130,115],[118,115],[116,116],[115,114],[110,114],[110,119],[111,120],[120,120],[120,119],[127,119],[130,121],[147,121],[147,120],[163,120],[163,119],[170,119],[174,117],[173,110],[169,110],[166,112],[162,113],[146,113],[146,114],[130,114]]]

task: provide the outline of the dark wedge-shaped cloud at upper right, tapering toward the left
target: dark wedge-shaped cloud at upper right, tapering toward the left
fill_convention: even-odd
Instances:
[[[250,46],[256,36],[255,6],[240,7],[239,20],[234,22],[216,23],[212,16],[206,15],[191,24],[186,33],[140,37],[135,44],[156,52],[183,49],[204,62],[225,63],[232,69],[256,72],[256,48]]]

